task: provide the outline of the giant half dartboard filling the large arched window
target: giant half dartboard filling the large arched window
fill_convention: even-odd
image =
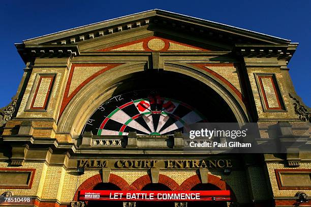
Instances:
[[[190,105],[154,91],[134,91],[110,98],[87,120],[83,131],[97,135],[171,135],[184,126],[205,122]]]

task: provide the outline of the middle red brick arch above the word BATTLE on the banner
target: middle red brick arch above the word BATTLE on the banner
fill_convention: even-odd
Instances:
[[[149,183],[151,183],[150,175],[146,174],[138,178],[136,181],[134,181],[131,184],[131,187],[132,189],[135,189],[135,190],[141,190],[143,187],[145,187]],[[171,179],[170,177],[164,174],[159,174],[159,183],[166,185],[171,190],[179,190],[179,185],[176,183],[176,181],[174,181],[173,179]]]

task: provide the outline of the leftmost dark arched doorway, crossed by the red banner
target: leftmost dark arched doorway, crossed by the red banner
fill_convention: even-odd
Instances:
[[[112,183],[99,183],[92,190],[121,190],[118,186]],[[122,207],[122,201],[88,201],[87,207],[96,207],[96,206],[113,206],[113,207]]]

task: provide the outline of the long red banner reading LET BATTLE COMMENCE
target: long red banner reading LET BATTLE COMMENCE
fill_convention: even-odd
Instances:
[[[230,201],[229,190],[211,191],[118,191],[81,190],[79,200],[115,201]]]

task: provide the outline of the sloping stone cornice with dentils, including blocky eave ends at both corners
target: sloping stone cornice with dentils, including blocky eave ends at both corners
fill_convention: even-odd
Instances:
[[[290,40],[234,26],[162,10],[150,10],[25,40],[23,43],[16,44],[16,47],[24,62],[38,56],[75,56],[80,53],[77,45],[81,43],[106,37],[111,38],[111,35],[122,35],[123,33],[137,31],[137,29],[148,29],[157,34],[173,36],[174,33],[190,35],[191,37],[199,38],[200,44],[208,44],[210,41],[219,42],[220,45],[226,48],[225,50],[231,50],[234,45],[237,48],[239,47],[238,45],[242,44],[264,44],[265,49],[259,46],[255,47],[256,49],[247,47],[242,52],[252,54],[254,52],[257,53],[256,50],[258,50],[258,54],[263,52],[267,53],[268,56],[271,54],[277,55],[279,58],[286,59],[287,61],[290,60],[297,46],[290,44]],[[271,47],[276,46],[277,48],[273,48],[271,52],[266,48],[268,45]],[[288,48],[285,50],[283,46]],[[250,52],[247,51],[248,49],[250,49]]]

